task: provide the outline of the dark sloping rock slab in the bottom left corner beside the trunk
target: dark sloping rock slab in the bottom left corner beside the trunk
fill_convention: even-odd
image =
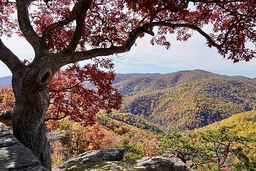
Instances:
[[[2,123],[0,123],[0,171],[48,171]]]

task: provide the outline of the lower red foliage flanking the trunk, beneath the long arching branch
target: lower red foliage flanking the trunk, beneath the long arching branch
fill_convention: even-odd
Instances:
[[[51,98],[45,117],[48,130],[56,129],[58,124],[55,121],[67,116],[71,121],[86,126],[94,124],[94,116],[99,110],[111,113],[113,109],[119,109],[122,96],[112,87],[116,76],[113,63],[109,59],[94,61],[94,64],[83,67],[77,63],[70,65],[65,70],[58,70],[53,76],[48,84]],[[88,88],[88,85],[95,88]],[[0,88],[0,110],[12,110],[14,102],[12,88]]]

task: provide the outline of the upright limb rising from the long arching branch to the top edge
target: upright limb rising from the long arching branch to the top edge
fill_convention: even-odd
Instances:
[[[75,4],[73,7],[74,17],[76,18],[76,29],[73,33],[73,37],[67,47],[67,51],[73,53],[76,50],[76,47],[84,35],[84,27],[85,27],[85,16],[90,8],[92,0],[81,0]]]

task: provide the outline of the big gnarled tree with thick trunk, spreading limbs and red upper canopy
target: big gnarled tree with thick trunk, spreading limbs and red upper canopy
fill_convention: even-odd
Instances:
[[[51,169],[47,85],[62,66],[128,52],[145,34],[153,36],[153,45],[169,48],[167,33],[186,41],[192,30],[222,56],[250,61],[255,50],[245,44],[256,41],[255,7],[254,0],[0,0],[1,34],[24,37],[35,51],[26,65],[0,41],[0,60],[13,74],[15,105],[9,114],[15,137]],[[203,31],[207,24],[213,26],[210,34]]]

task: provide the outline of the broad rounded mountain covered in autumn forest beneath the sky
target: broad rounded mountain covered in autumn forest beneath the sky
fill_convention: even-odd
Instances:
[[[203,70],[131,77],[114,84],[120,112],[144,115],[165,130],[193,129],[256,109],[256,82]]]

